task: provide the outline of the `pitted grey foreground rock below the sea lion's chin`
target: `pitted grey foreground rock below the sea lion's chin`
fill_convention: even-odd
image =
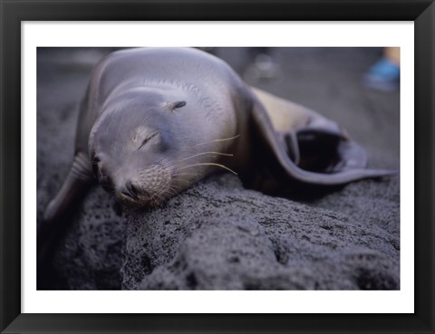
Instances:
[[[130,215],[122,288],[397,289],[397,231],[383,224],[397,219],[398,187],[386,187],[380,205],[367,182],[330,210],[244,189],[231,175],[209,178],[146,216]],[[370,214],[343,213],[362,194]],[[393,212],[380,214],[382,205]]]

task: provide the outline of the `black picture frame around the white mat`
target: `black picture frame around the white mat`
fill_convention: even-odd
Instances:
[[[0,0],[0,330],[2,333],[434,333],[433,0],[232,2]],[[22,314],[21,22],[413,21],[415,312],[413,314]],[[406,112],[406,110],[403,110]],[[375,302],[375,301],[373,301]]]

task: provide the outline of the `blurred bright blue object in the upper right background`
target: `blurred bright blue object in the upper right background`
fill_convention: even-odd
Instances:
[[[380,91],[395,91],[399,88],[401,69],[386,58],[376,62],[364,74],[362,82],[366,87]]]

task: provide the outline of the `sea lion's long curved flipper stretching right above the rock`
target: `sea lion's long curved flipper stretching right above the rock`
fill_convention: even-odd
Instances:
[[[248,92],[250,98],[253,100],[252,105],[252,127],[254,128],[255,135],[257,136],[258,142],[263,146],[266,146],[267,150],[270,150],[273,155],[272,158],[275,159],[275,166],[278,167],[281,174],[284,174],[290,179],[297,180],[299,182],[312,184],[312,185],[324,185],[324,186],[338,186],[343,185],[354,180],[368,178],[368,177],[383,177],[395,174],[395,172],[389,170],[380,169],[363,169],[359,167],[358,164],[355,168],[342,168],[338,172],[315,172],[310,170],[304,170],[301,167],[295,165],[295,162],[287,154],[287,148],[283,145],[282,140],[279,139],[278,134],[274,128],[272,119],[270,118],[268,111],[266,110],[262,100],[258,99],[256,94]],[[306,113],[308,115],[309,112]],[[304,114],[303,114],[304,116]],[[298,117],[298,120],[302,118]],[[307,118],[309,121],[309,119]],[[308,123],[309,124],[309,123]],[[327,126],[326,126],[327,124]],[[308,125],[310,131],[317,129],[322,132],[324,129],[325,133],[328,133],[333,122],[325,122],[324,118],[314,119],[311,125]],[[296,130],[298,127],[295,126]],[[304,128],[299,128],[304,129]],[[345,140],[343,140],[345,142]],[[351,142],[352,143],[352,142]],[[300,145],[299,145],[300,149]],[[345,147],[339,148],[346,152]],[[361,150],[358,146],[351,144],[347,152],[352,152],[353,155],[361,155]],[[342,152],[343,153],[343,152]],[[347,154],[347,153],[345,153]],[[344,154],[344,156],[345,156]],[[363,156],[361,156],[363,157]],[[278,171],[276,171],[278,172]],[[281,176],[280,176],[281,177]]]

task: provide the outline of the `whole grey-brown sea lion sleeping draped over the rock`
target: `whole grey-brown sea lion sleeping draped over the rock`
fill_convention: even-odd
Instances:
[[[48,234],[95,180],[122,205],[144,207],[219,169],[266,193],[391,174],[365,164],[335,122],[247,86],[207,52],[112,52],[92,72],[73,164],[42,228]]]

